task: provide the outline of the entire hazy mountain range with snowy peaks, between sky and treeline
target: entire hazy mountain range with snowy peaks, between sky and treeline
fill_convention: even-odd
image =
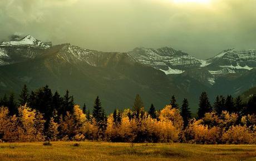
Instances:
[[[163,107],[175,94],[193,111],[202,91],[239,95],[256,85],[256,51],[227,49],[201,60],[173,48],[99,52],[71,44],[51,46],[32,36],[0,43],[0,93],[50,85],[69,89],[77,103],[92,106],[100,95],[108,112],[131,107],[139,93],[145,107]]]

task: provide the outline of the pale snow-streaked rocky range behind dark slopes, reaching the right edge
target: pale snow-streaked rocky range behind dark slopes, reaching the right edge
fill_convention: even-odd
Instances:
[[[140,63],[159,69],[165,74],[183,74],[205,85],[214,85],[218,77],[238,75],[256,68],[255,50],[227,49],[206,60],[168,47],[135,48],[129,53]]]

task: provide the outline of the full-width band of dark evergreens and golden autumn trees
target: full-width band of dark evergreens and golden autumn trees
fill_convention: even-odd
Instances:
[[[196,117],[189,100],[145,108],[139,94],[131,108],[115,109],[107,115],[100,97],[92,110],[74,103],[66,91],[60,95],[46,85],[30,91],[4,95],[0,100],[0,139],[2,142],[55,140],[105,140],[109,142],[180,142],[198,144],[255,144],[256,95],[241,97],[218,95],[210,103],[206,92],[199,96]]]

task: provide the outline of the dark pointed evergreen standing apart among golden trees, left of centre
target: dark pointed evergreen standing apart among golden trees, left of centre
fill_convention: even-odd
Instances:
[[[102,122],[105,122],[106,114],[104,112],[104,109],[101,107],[99,96],[97,96],[97,98],[95,99],[92,116],[93,118],[95,118],[98,125]]]

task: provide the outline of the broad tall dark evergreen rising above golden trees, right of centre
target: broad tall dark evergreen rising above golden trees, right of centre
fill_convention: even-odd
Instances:
[[[211,112],[211,105],[209,102],[208,95],[206,94],[206,92],[203,92],[201,93],[199,98],[198,118],[203,118],[204,114],[208,112]]]

